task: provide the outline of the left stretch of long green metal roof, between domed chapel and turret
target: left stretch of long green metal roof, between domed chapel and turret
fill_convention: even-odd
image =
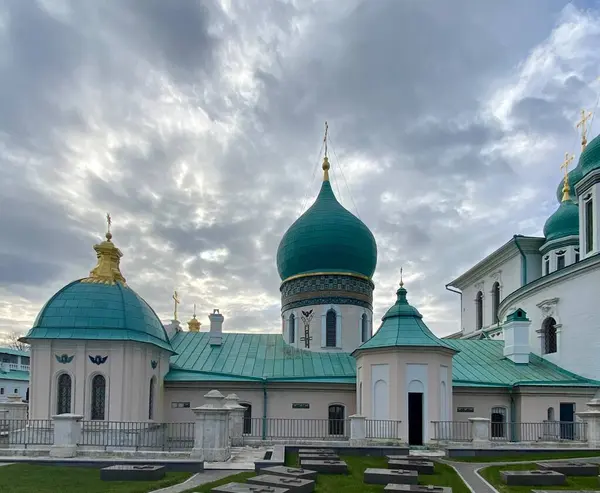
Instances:
[[[348,353],[313,352],[285,343],[280,334],[223,334],[220,346],[208,332],[180,332],[172,344],[167,380],[355,381],[355,362]]]

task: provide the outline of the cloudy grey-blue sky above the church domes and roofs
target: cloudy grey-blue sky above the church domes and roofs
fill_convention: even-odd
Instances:
[[[600,89],[600,6],[558,0],[0,0],[0,338],[95,266],[161,319],[281,328],[279,240],[332,182],[378,246],[375,320],[557,208]],[[592,125],[592,136],[600,124]],[[376,327],[378,324],[376,324]]]

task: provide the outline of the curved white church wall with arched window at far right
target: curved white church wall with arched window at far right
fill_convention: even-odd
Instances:
[[[562,274],[562,275],[561,275]],[[565,273],[536,283],[515,296],[509,297],[500,307],[501,318],[522,308],[531,320],[529,343],[531,351],[579,375],[599,379],[600,367],[600,257],[580,262]],[[557,328],[557,352],[543,354],[543,321],[553,317]]]

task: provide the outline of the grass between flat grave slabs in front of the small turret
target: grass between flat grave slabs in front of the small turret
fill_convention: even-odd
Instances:
[[[348,464],[349,474],[319,474],[317,476],[317,487],[315,493],[381,493],[385,485],[365,484],[363,477],[368,467],[387,469],[385,457],[355,457],[344,456],[342,460]],[[298,466],[298,455],[287,454],[286,465]],[[456,471],[446,464],[435,463],[435,474],[419,475],[420,484],[432,484],[434,486],[450,486],[453,493],[470,493]]]

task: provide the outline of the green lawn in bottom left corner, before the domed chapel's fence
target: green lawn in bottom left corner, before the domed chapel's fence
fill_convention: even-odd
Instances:
[[[169,472],[160,481],[101,481],[100,469],[13,464],[0,467],[2,493],[147,493],[181,483],[187,472]]]

